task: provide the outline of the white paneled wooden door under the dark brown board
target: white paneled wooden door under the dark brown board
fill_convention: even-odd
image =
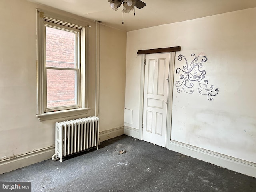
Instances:
[[[142,140],[166,147],[170,53],[145,59]]]

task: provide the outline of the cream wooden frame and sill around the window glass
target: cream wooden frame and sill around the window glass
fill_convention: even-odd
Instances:
[[[45,53],[45,23],[51,22],[62,26],[79,29],[79,52],[80,60],[78,63],[78,104],[71,107],[47,108],[46,94],[46,53]],[[88,108],[88,23],[67,18],[63,15],[46,12],[37,9],[37,84],[38,84],[38,117],[39,121],[56,118],[64,118],[86,114]]]

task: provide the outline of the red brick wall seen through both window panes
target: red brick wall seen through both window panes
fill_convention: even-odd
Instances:
[[[76,68],[74,32],[46,27],[46,66]],[[47,108],[75,105],[76,71],[47,69]]]

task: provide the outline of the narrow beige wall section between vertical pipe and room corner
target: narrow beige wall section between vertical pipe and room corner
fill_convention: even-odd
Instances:
[[[124,126],[126,32],[100,26],[101,130]]]

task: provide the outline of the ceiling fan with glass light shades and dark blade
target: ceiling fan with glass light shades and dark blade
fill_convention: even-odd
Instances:
[[[115,11],[117,11],[117,8],[123,4],[123,13],[129,13],[134,9],[134,6],[138,9],[146,6],[146,3],[142,2],[141,0],[108,0],[108,2],[110,3],[111,8]]]

